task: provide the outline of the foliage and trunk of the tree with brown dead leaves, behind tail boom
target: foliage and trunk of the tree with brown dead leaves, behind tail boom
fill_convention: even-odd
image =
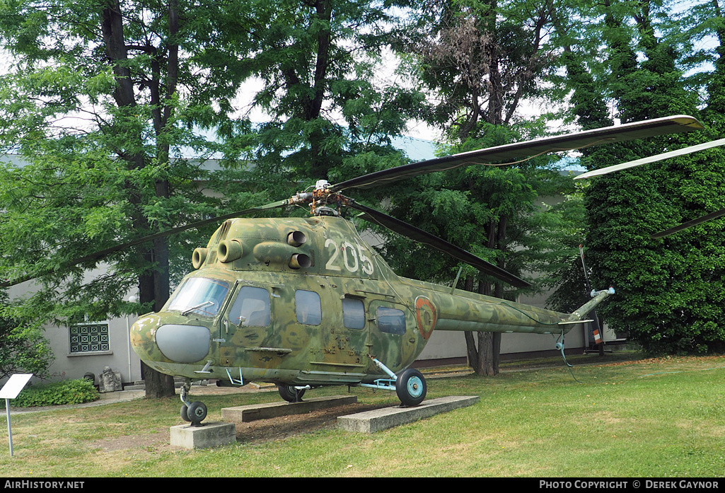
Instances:
[[[547,73],[555,72],[559,46],[544,33],[555,26],[557,9],[541,9],[535,1],[441,0],[429,5],[433,8],[415,17],[415,29],[401,37],[399,49],[415,60],[411,65],[438,99],[428,122],[444,128],[455,143],[447,153],[544,135],[542,120],[526,121],[520,109],[529,99],[548,102],[563,96],[542,83]],[[423,178],[413,187],[398,187],[389,199],[391,210],[499,268],[526,277],[552,257],[546,237],[556,228],[555,216],[542,213],[538,197],[571,188],[571,178],[552,167],[555,159],[535,158],[503,167],[471,165],[444,173],[441,179]],[[405,241],[399,247],[386,244],[386,252],[398,257],[411,250],[413,254],[403,261],[408,275],[443,281],[462,268],[463,289],[508,299],[518,295],[494,278],[436,257],[437,252]],[[534,291],[545,282],[544,278],[531,281]],[[466,334],[468,360],[477,373],[497,373],[499,338],[479,333],[476,348],[471,334]]]

